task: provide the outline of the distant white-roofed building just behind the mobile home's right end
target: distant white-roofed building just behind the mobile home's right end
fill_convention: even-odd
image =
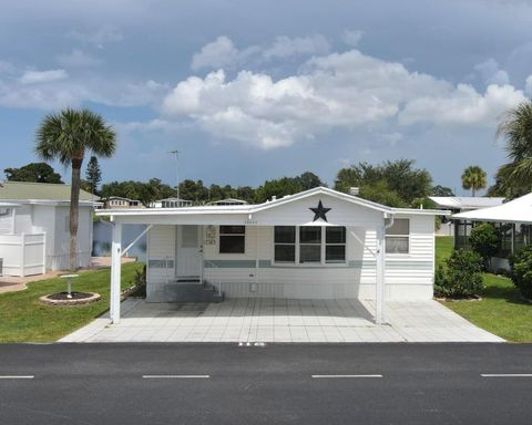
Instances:
[[[438,208],[451,210],[453,214],[471,211],[479,208],[497,207],[504,203],[504,198],[482,196],[429,196]],[[454,236],[454,224],[451,220],[441,220],[438,236]]]

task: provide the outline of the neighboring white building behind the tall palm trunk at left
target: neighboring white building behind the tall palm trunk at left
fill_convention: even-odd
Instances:
[[[94,197],[80,193],[78,267],[91,265]],[[70,267],[70,185],[0,184],[0,274],[30,276]]]

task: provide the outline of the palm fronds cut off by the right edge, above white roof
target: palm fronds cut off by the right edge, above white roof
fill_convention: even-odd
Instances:
[[[510,159],[500,169],[505,185],[512,189],[532,185],[532,101],[523,102],[503,115],[497,137],[505,139]]]

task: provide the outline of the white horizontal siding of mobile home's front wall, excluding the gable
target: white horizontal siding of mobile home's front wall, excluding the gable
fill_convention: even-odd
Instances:
[[[410,250],[408,255],[387,255],[387,298],[430,299],[433,217],[401,217],[410,218]],[[274,265],[273,229],[269,226],[246,227],[245,253],[228,255],[218,252],[219,230],[216,227],[216,243],[204,246],[204,278],[213,282],[219,280],[227,297],[375,298],[375,229],[348,228],[347,265],[334,266]],[[364,247],[350,231],[358,236]],[[157,265],[149,267],[149,300],[162,301],[164,283],[174,276],[174,262],[167,260],[175,256],[175,226],[154,226],[147,247],[149,265]]]

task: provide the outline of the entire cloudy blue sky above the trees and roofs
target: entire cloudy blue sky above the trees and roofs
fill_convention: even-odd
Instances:
[[[117,133],[104,182],[332,185],[411,158],[464,194],[469,165],[492,183],[497,125],[532,96],[531,28],[516,0],[2,1],[0,169],[37,160],[39,123],[71,106]]]

